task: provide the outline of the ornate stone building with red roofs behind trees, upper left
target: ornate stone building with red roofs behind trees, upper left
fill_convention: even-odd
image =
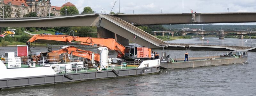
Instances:
[[[20,17],[23,17],[23,15],[30,12],[36,12],[37,16],[47,16],[49,13],[52,13],[55,16],[60,16],[60,9],[63,6],[68,6],[70,4],[71,3],[68,2],[61,7],[58,7],[52,6],[51,0],[0,0],[0,7],[4,5],[9,5],[11,7],[11,18],[18,18],[18,13],[20,14]]]

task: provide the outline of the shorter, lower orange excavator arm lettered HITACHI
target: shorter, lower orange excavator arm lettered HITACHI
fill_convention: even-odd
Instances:
[[[78,52],[78,51],[81,51],[81,52]],[[89,60],[92,60],[94,58],[95,61],[97,61],[97,62],[100,61],[100,54],[95,53],[94,57],[93,57],[93,55],[92,55],[93,52],[78,49],[74,46],[68,46],[67,48],[60,49],[60,50],[57,50],[57,51],[52,51],[52,52],[58,53],[59,55],[62,54],[62,53],[68,53],[68,54],[72,53],[72,55],[75,55],[77,57],[83,57],[83,58],[87,58]]]

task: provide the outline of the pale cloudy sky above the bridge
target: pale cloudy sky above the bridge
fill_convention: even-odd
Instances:
[[[116,4],[114,6],[114,2]],[[79,12],[89,6],[95,12],[120,12],[125,14],[140,13],[182,13],[182,0],[68,0],[76,5]],[[53,6],[62,6],[65,0],[51,0]],[[120,4],[119,4],[120,3]],[[183,13],[191,9],[197,13],[211,12],[256,12],[256,0],[184,0]],[[228,10],[229,9],[229,10]],[[241,23],[250,24],[250,23]],[[252,23],[256,24],[256,23]]]

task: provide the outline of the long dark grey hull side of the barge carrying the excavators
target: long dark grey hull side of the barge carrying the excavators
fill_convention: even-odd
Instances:
[[[74,82],[82,80],[92,80],[101,78],[113,78],[120,76],[137,76],[144,74],[152,74],[160,71],[160,65],[147,68],[133,68],[133,69],[120,69],[120,70],[108,70],[108,71],[96,71],[96,72],[84,72],[84,73],[72,73],[72,74],[57,74],[46,76],[30,76],[30,77],[18,77],[0,79],[0,89],[32,86],[41,84],[55,84],[63,82]]]

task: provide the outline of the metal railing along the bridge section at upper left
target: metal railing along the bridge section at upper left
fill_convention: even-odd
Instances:
[[[100,12],[90,12],[90,13],[78,13],[78,14],[69,14],[67,16],[75,16],[75,15],[85,15],[85,14],[100,14]],[[43,19],[43,18],[55,18],[55,17],[65,17],[66,15],[61,16],[40,16],[40,17],[21,17],[21,18],[5,18],[0,20],[29,20],[29,19]]]

